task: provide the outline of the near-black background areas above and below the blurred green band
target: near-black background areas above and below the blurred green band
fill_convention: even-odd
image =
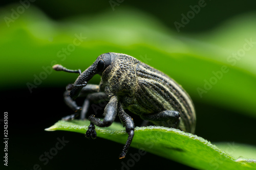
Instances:
[[[1,2],[6,6],[18,1]],[[196,34],[218,27],[225,20],[236,15],[255,10],[255,1],[205,1],[207,6],[185,27],[184,34]],[[135,8],[157,18],[170,30],[176,31],[174,21],[180,21],[181,13],[190,10],[190,5],[198,1],[123,1],[115,10]],[[61,20],[76,15],[96,15],[112,10],[109,1],[35,1],[34,6],[44,11],[50,18]],[[8,74],[8,71],[7,71]],[[13,86],[13,85],[12,85]],[[38,164],[42,169],[121,169],[131,157],[119,160],[123,145],[102,138],[89,140],[83,134],[71,132],[46,132],[62,116],[72,114],[63,103],[62,93],[66,84],[59,87],[39,86],[30,93],[28,88],[17,85],[14,89],[1,90],[1,110],[8,112],[9,169],[33,169]],[[254,144],[245,131],[254,128],[254,119],[230,112],[216,106],[200,105],[194,101],[197,111],[196,134],[211,142],[236,141]],[[211,112],[215,112],[211,116]],[[3,117],[1,117],[3,118]],[[207,120],[211,120],[208,122]],[[228,124],[227,124],[228,121]],[[1,127],[2,127],[1,122]],[[206,131],[207,127],[207,132]],[[225,131],[223,131],[225,129]],[[57,138],[64,137],[69,142],[56,156],[44,165],[39,157],[55,147]],[[131,148],[129,153],[138,153]],[[177,162],[146,153],[130,169],[193,169]],[[39,169],[39,168],[38,168]],[[126,168],[124,168],[126,169]]]

